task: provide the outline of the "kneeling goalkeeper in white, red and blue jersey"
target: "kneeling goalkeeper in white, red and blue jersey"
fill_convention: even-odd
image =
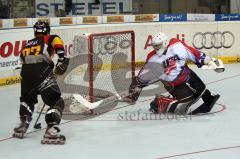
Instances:
[[[143,87],[161,81],[170,96],[156,96],[150,104],[152,112],[197,114],[211,111],[220,95],[212,95],[187,62],[193,62],[199,68],[208,65],[217,72],[224,71],[222,63],[219,65],[219,60],[213,60],[176,38],[169,40],[163,32],[153,37],[152,47],[154,50],[133,80],[126,100],[135,102]],[[192,110],[191,105],[199,98],[203,104]]]

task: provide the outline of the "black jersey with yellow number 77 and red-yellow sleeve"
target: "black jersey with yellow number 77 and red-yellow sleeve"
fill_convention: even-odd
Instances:
[[[33,84],[48,77],[54,68],[54,53],[64,56],[64,45],[59,36],[44,35],[29,40],[21,51],[22,80]]]

